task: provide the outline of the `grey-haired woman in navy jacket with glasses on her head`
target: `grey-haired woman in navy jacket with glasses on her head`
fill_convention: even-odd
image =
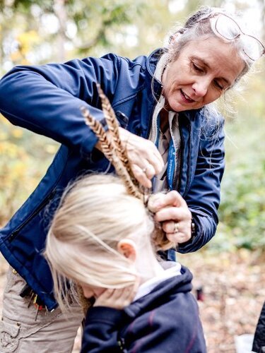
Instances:
[[[104,120],[96,83],[119,119],[135,178],[148,188],[152,180],[154,191],[178,191],[158,202],[155,217],[167,238],[185,253],[204,246],[218,223],[223,119],[208,104],[232,88],[262,54],[263,45],[243,35],[234,16],[204,8],[171,36],[166,48],[148,57],[131,61],[108,54],[66,64],[21,66],[2,78],[1,114],[61,143],[37,189],[1,229],[1,251],[14,272],[8,274],[4,293],[3,352],[17,347],[27,352],[36,342],[49,352],[71,349],[81,313],[71,316],[69,333],[56,309],[42,250],[52,210],[69,181],[87,171],[112,170],[80,110],[85,107],[95,119]],[[175,251],[163,256],[175,259]],[[36,309],[35,314],[33,306],[28,308],[30,297],[42,311]],[[51,330],[54,335],[47,335]],[[47,336],[49,342],[43,342]]]

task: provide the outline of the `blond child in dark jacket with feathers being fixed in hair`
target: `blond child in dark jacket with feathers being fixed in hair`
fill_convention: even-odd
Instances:
[[[156,253],[171,246],[119,177],[90,175],[66,191],[45,256],[61,308],[69,304],[69,289],[71,300],[77,297],[76,284],[95,298],[82,353],[206,352],[192,274]]]

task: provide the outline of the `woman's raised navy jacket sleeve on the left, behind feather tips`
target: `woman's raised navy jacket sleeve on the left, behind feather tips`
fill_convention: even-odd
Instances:
[[[0,112],[12,124],[78,148],[86,156],[97,138],[86,126],[80,108],[103,119],[95,83],[112,100],[119,60],[109,54],[65,64],[17,66],[0,81]]]

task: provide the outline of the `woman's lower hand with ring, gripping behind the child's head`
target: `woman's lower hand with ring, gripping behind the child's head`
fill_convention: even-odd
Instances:
[[[175,190],[160,194],[155,201],[155,220],[162,223],[167,239],[182,244],[192,237],[192,213],[184,198]]]

